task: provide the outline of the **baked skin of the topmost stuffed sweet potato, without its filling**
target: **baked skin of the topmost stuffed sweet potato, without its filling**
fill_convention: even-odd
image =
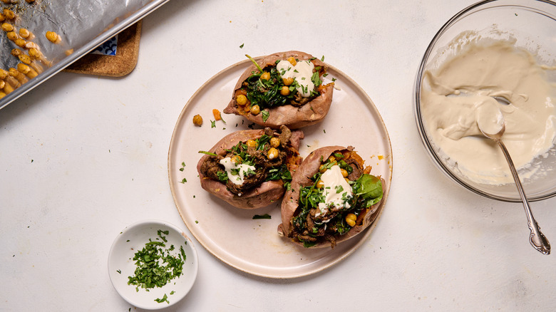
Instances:
[[[285,60],[291,56],[300,61],[313,59],[312,62],[315,66],[321,66],[322,68],[328,67],[319,59],[313,58],[312,55],[301,51],[274,53],[269,56],[264,56],[264,58],[257,61],[257,63],[261,66],[261,68],[265,68],[267,66],[274,66],[276,61]],[[242,88],[242,83],[252,75],[253,71],[258,72],[258,69],[254,66],[254,64],[249,66],[249,68],[244,71],[242,76],[240,76],[240,79],[237,81],[232,93],[232,100],[230,100],[230,103],[228,103],[227,107],[223,110],[224,113],[242,115],[244,118],[247,118],[247,120],[250,120],[257,125],[263,125],[264,127],[274,129],[279,128],[280,125],[286,125],[289,129],[307,127],[308,125],[319,123],[328,113],[332,103],[334,83],[322,85],[320,90],[321,95],[302,106],[296,107],[293,105],[282,105],[275,108],[269,108],[269,117],[266,121],[262,120],[262,114],[253,115],[238,109],[238,105],[235,100],[236,92]]]

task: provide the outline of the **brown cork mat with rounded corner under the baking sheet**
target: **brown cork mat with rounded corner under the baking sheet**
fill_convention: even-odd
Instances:
[[[125,76],[137,65],[140,38],[141,21],[138,21],[118,33],[115,56],[88,53],[63,71],[108,77]]]

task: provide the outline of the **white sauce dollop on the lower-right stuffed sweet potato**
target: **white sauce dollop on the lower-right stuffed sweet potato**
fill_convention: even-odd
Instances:
[[[334,165],[326,170],[321,175],[321,180],[324,182],[323,186],[323,194],[325,197],[324,202],[319,202],[319,209],[321,213],[326,212],[326,207],[329,207],[331,204],[334,207],[346,207],[349,208],[349,204],[344,201],[343,198],[351,196],[353,192],[351,191],[351,186],[349,183],[344,179],[344,176],[341,175],[341,170],[339,165]]]

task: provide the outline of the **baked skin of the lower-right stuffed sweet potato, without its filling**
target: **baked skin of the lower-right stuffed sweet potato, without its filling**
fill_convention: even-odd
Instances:
[[[313,177],[316,172],[319,172],[321,159],[326,160],[326,158],[328,158],[334,152],[341,150],[353,150],[353,147],[343,147],[339,145],[321,147],[309,154],[309,156],[307,156],[303,160],[302,164],[299,165],[294,176],[292,177],[292,186],[289,191],[284,194],[284,199],[282,199],[282,223],[278,225],[278,234],[280,236],[292,237],[292,218],[297,215],[296,212],[299,208],[299,189],[301,189],[301,187],[306,187],[314,183],[311,180],[311,177]],[[361,159],[361,157],[355,152],[353,152],[352,155],[352,157],[355,157],[356,160],[362,165],[363,160]],[[384,185],[385,181],[383,179],[381,179],[381,182]],[[361,222],[357,222],[356,226],[352,227],[349,232],[341,236],[336,236],[336,244],[341,241],[346,241],[353,236],[356,236],[364,229],[369,227],[376,218],[376,212],[380,204],[381,202],[378,202],[369,207],[369,209],[367,209],[366,213],[363,216],[363,220],[361,220]],[[295,241],[294,239],[292,239],[292,241],[295,244],[303,246],[303,243],[299,241]],[[329,241],[321,241],[310,248],[322,248],[329,246],[331,246],[331,243]]]

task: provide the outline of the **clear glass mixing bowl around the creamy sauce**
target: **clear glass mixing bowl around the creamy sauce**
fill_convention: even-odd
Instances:
[[[437,167],[451,180],[465,189],[488,198],[506,202],[520,202],[515,184],[483,184],[465,177],[443,156],[426,130],[426,120],[421,115],[421,90],[426,88],[423,74],[441,66],[443,61],[457,53],[453,40],[463,31],[473,31],[481,38],[515,38],[515,46],[525,48],[537,58],[537,63],[556,66],[556,3],[535,0],[480,1],[455,14],[436,33],[426,49],[414,85],[414,113],[423,145]],[[556,71],[548,79],[556,85]],[[556,104],[556,103],[555,103]],[[556,126],[556,125],[555,125]],[[478,160],[480,161],[480,160]],[[525,194],[530,201],[547,199],[556,194],[556,147],[546,155],[536,157],[533,165],[540,167],[532,177],[522,179]]]

